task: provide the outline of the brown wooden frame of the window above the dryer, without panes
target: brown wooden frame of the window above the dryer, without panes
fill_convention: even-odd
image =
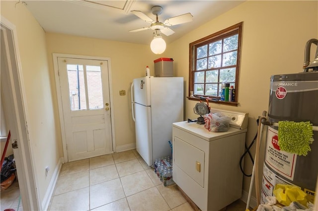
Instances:
[[[201,38],[197,41],[194,41],[189,44],[189,90],[188,90],[188,96],[189,100],[194,101],[200,101],[201,97],[209,97],[210,102],[212,103],[218,103],[218,104],[225,104],[225,105],[231,105],[231,106],[238,106],[238,94],[239,94],[239,69],[240,69],[240,55],[241,55],[241,40],[242,40],[242,26],[243,22],[239,22],[233,26],[230,26],[226,29],[223,29],[219,32],[213,33],[211,35],[208,35],[204,38]],[[220,97],[217,96],[206,96],[206,95],[197,95],[191,97],[190,93],[194,90],[194,73],[195,71],[195,65],[196,65],[196,49],[208,45],[210,43],[213,43],[215,41],[224,39],[226,37],[233,36],[235,34],[238,34],[238,56],[237,56],[237,64],[227,66],[227,68],[236,67],[236,76],[235,76],[235,102],[228,102],[228,101],[221,101]],[[207,69],[208,70],[208,69]],[[207,71],[205,70],[205,71]],[[220,76],[219,76],[220,77]],[[219,79],[218,79],[219,80]],[[204,83],[205,86],[206,83]],[[219,90],[218,90],[219,91]],[[211,100],[212,99],[212,100]]]

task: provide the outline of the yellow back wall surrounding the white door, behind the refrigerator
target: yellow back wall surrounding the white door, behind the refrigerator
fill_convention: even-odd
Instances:
[[[114,111],[116,147],[129,147],[135,144],[135,124],[131,115],[131,82],[134,78],[144,77],[146,66],[154,74],[154,60],[158,55],[151,53],[149,45],[138,45],[115,41],[99,40],[64,34],[46,33],[47,56],[50,66],[51,84],[55,84],[52,53],[66,53],[89,56],[109,57],[111,61],[111,80]],[[120,96],[119,91],[126,95]],[[54,108],[58,110],[57,93],[54,89]],[[56,115],[58,118],[58,115]],[[60,125],[57,126],[59,134]],[[59,142],[60,155],[63,155]]]

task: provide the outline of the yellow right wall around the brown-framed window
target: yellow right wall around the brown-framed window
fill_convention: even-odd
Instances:
[[[211,104],[211,107],[248,112],[249,145],[257,131],[256,119],[268,107],[270,76],[302,72],[305,44],[318,38],[317,8],[318,1],[246,1],[170,44],[168,53],[174,58],[177,76],[186,80],[186,96],[189,43],[243,21],[239,106]],[[311,55],[313,60],[314,53]],[[186,118],[197,117],[193,113],[195,103],[186,100]],[[251,173],[252,164],[247,157],[244,168]],[[244,177],[246,192],[249,181],[250,177]]]

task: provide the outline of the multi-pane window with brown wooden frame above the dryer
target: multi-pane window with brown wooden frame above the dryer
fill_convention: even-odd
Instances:
[[[242,24],[190,43],[189,96],[193,92],[190,100],[209,97],[221,104],[238,104]],[[225,83],[235,89],[232,102],[221,101]]]

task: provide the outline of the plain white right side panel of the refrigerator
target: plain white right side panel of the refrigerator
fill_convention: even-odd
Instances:
[[[172,154],[172,123],[183,121],[183,77],[150,78],[153,162]]]

